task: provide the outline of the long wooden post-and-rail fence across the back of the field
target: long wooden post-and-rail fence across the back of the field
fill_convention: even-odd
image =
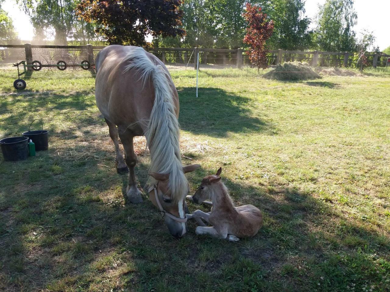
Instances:
[[[50,46],[50,45],[0,45],[0,60],[3,63],[16,62],[16,54],[12,50],[23,51],[23,57],[27,63],[34,62],[33,48],[39,49],[62,49],[80,50],[85,52],[90,64],[94,64],[94,58],[98,51],[104,46]],[[145,50],[156,55],[163,63],[183,63],[193,64],[196,68],[196,58],[199,53],[200,64],[215,64],[215,65],[234,65],[241,68],[243,65],[250,65],[247,50],[243,49],[206,49],[206,48],[149,48]],[[368,54],[366,55],[372,67],[385,67],[387,59],[390,55],[385,54]],[[282,49],[271,50],[267,52],[268,65],[277,65],[283,62],[307,62],[316,67],[351,67],[353,64],[353,54],[348,52],[321,52],[321,51],[285,51]],[[20,60],[19,60],[20,61]]]

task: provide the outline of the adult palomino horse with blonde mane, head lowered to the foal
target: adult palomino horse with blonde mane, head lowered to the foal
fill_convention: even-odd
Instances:
[[[115,145],[118,172],[129,169],[128,200],[142,202],[134,167],[133,137],[145,135],[150,150],[149,199],[164,214],[170,234],[186,233],[184,173],[200,165],[181,164],[179,97],[165,65],[141,47],[108,46],[96,57],[96,104]],[[119,149],[118,135],[125,151]]]

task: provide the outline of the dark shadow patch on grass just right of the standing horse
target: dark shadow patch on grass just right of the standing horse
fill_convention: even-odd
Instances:
[[[276,130],[250,108],[251,99],[234,95],[220,88],[177,88],[180,99],[179,123],[183,130],[194,134],[227,137],[229,133],[267,132]]]

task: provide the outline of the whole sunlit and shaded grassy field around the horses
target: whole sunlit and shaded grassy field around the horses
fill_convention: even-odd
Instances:
[[[229,243],[195,236],[193,222],[175,240],[145,193],[125,204],[94,79],[16,94],[1,71],[0,137],[40,118],[50,149],[0,157],[0,290],[390,291],[390,70],[300,82],[255,72],[202,70],[195,98],[195,71],[172,71],[183,164],[202,165],[191,192],[222,166],[236,204],[264,213],[257,236]]]

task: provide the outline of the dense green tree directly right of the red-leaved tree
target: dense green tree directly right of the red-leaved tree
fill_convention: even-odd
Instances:
[[[261,0],[256,4],[272,19],[275,29],[269,39],[274,49],[301,50],[312,44],[310,18],[304,16],[304,0]]]

